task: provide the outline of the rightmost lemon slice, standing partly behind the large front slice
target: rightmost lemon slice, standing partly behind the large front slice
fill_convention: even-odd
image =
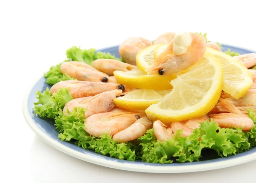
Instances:
[[[223,91],[235,99],[243,97],[253,84],[250,71],[228,54],[208,47],[206,52],[214,55],[221,62],[223,68]]]

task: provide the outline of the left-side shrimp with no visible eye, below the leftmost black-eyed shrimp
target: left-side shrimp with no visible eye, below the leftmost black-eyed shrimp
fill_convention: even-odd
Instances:
[[[115,106],[113,99],[122,94],[122,90],[112,90],[96,94],[93,97],[76,98],[66,103],[63,113],[67,114],[67,109],[72,112],[74,107],[86,109],[85,118],[102,112],[109,112]]]

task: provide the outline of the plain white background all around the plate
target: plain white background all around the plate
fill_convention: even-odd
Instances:
[[[249,182],[256,161],[186,174],[136,173],[93,165],[44,143],[23,118],[26,90],[50,66],[62,62],[71,46],[100,49],[132,36],[154,40],[166,31],[203,31],[209,40],[256,50],[253,1],[175,2],[0,1],[0,182]]]

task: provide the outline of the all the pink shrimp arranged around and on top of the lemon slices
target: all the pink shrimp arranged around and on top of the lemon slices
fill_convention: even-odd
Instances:
[[[146,71],[150,74],[172,74],[183,71],[197,63],[210,47],[221,51],[216,43],[206,43],[199,34],[188,33],[191,40],[175,40],[176,33],[167,32],[154,40],[154,44],[169,46],[157,57]],[[180,46],[183,43],[183,47]],[[119,54],[126,63],[113,59],[98,59],[92,66],[77,61],[64,62],[61,65],[62,74],[77,80],[67,80],[56,83],[50,89],[53,94],[61,88],[69,88],[73,100],[67,102],[63,114],[74,107],[85,109],[84,130],[95,137],[104,133],[111,135],[117,143],[129,142],[143,136],[148,129],[154,130],[157,140],[164,142],[172,139],[177,130],[183,130],[182,136],[189,136],[200,124],[212,119],[221,128],[241,128],[248,131],[253,128],[253,120],[247,114],[247,109],[256,112],[256,70],[250,69],[253,85],[244,97],[234,99],[225,92],[214,108],[202,117],[172,123],[162,123],[160,120],[151,121],[145,111],[121,109],[115,106],[113,99],[131,91],[131,89],[116,82],[113,72],[138,70],[136,66],[137,53],[151,46],[152,42],[143,37],[131,37],[119,46]],[[185,45],[185,47],[184,47]],[[178,52],[177,47],[183,52]],[[256,65],[256,54],[244,54],[234,57],[248,69]]]

